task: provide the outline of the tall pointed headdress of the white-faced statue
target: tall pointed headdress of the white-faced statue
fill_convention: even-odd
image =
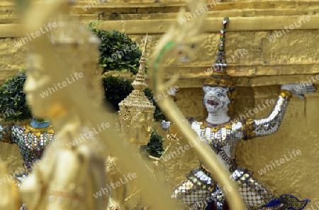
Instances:
[[[229,19],[223,19],[223,26],[220,29],[220,39],[219,39],[219,48],[217,52],[216,61],[211,68],[211,74],[205,80],[203,86],[211,87],[233,87],[233,79],[228,76],[226,67],[226,58],[225,58],[225,33],[226,33],[226,24]]]

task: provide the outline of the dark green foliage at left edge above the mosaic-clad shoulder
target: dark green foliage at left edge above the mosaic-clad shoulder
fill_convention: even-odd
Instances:
[[[21,69],[18,74],[6,79],[0,87],[0,115],[4,121],[24,121],[32,118],[23,85],[26,82],[26,70]],[[7,110],[12,110],[7,114]]]

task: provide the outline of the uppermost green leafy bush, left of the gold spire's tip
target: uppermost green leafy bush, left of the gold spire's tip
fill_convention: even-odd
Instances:
[[[138,43],[133,42],[125,33],[96,28],[100,23],[101,21],[89,23],[89,29],[101,39],[99,65],[103,67],[103,72],[115,70],[137,74],[142,55]]]

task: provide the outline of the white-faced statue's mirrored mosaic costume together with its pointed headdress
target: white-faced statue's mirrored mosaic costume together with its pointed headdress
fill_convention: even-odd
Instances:
[[[232,79],[226,74],[225,67],[225,26],[228,18],[223,21],[220,30],[220,45],[213,75],[206,79],[203,87],[228,88],[230,101],[235,98],[235,87]],[[278,131],[292,94],[282,89],[274,109],[267,118],[243,121],[231,119],[221,124],[212,124],[204,121],[191,121],[191,128],[198,134],[198,140],[202,140],[211,146],[218,158],[230,172],[230,178],[238,184],[240,195],[245,201],[247,209],[303,209],[308,199],[299,201],[290,194],[276,197],[261,182],[254,179],[252,172],[240,167],[236,163],[235,149],[240,140],[248,140],[259,136],[266,136]],[[215,103],[213,101],[211,103]],[[230,106],[232,104],[229,104]],[[179,184],[172,194],[172,198],[178,199],[185,209],[223,209],[225,204],[225,192],[229,189],[220,189],[214,180],[213,174],[201,164],[195,170],[186,175],[186,180]]]

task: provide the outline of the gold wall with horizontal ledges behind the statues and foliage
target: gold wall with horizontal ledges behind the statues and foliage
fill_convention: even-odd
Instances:
[[[97,0],[96,0],[97,1]],[[100,0],[102,2],[102,0]],[[0,3],[0,80],[16,74],[24,67],[26,50],[13,48],[22,34],[13,1]],[[149,33],[152,40],[147,45],[151,55],[164,31],[176,18],[181,0],[108,0],[84,11],[89,1],[79,1],[72,14],[83,23],[104,20],[101,27],[128,33],[133,40],[140,40]],[[155,3],[156,2],[156,3]],[[118,3],[118,4],[113,4]],[[125,4],[120,4],[125,3]],[[223,1],[208,12],[206,33],[197,57],[187,65],[167,60],[167,78],[180,74],[177,86],[177,106],[185,116],[203,118],[206,111],[202,104],[201,84],[205,71],[211,67],[217,52],[221,20],[230,17],[226,33],[226,55],[238,55],[229,65],[231,75],[237,77],[238,96],[235,116],[261,106],[267,99],[276,99],[280,84],[307,82],[308,77],[319,75],[319,1]],[[283,33],[281,27],[290,26],[300,16],[309,16],[300,27]],[[298,23],[297,23],[298,24]],[[280,33],[281,32],[281,35]],[[270,36],[276,39],[270,41]],[[240,55],[240,49],[247,50]],[[151,59],[151,57],[150,57]],[[319,76],[318,76],[319,78]],[[313,79],[318,88],[319,79]],[[300,199],[319,202],[319,93],[309,94],[305,100],[293,97],[284,123],[277,133],[240,143],[237,159],[240,165],[255,172],[255,177],[276,194],[294,194]],[[252,118],[269,114],[271,107],[259,110]],[[173,148],[172,151],[175,149]],[[293,150],[301,155],[291,158]],[[290,158],[280,166],[259,174],[266,165],[281,158]],[[9,171],[21,167],[16,145],[0,143],[0,157],[9,165]],[[196,155],[189,150],[167,162],[169,187],[184,179],[184,174],[197,167]],[[258,172],[259,171],[259,172]],[[174,176],[173,176],[174,174]],[[310,207],[309,207],[310,208]]]

